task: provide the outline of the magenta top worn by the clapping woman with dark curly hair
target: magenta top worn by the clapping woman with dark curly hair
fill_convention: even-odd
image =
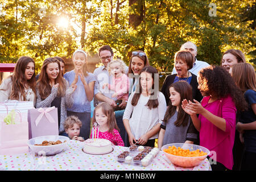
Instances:
[[[224,164],[226,168],[232,169],[234,164],[232,149],[236,131],[236,105],[230,96],[208,104],[209,99],[210,96],[204,97],[201,105],[210,113],[225,119],[226,131],[222,131],[199,114],[201,121],[200,146],[212,151],[209,155],[212,159]],[[216,156],[213,156],[214,152],[216,152]]]

